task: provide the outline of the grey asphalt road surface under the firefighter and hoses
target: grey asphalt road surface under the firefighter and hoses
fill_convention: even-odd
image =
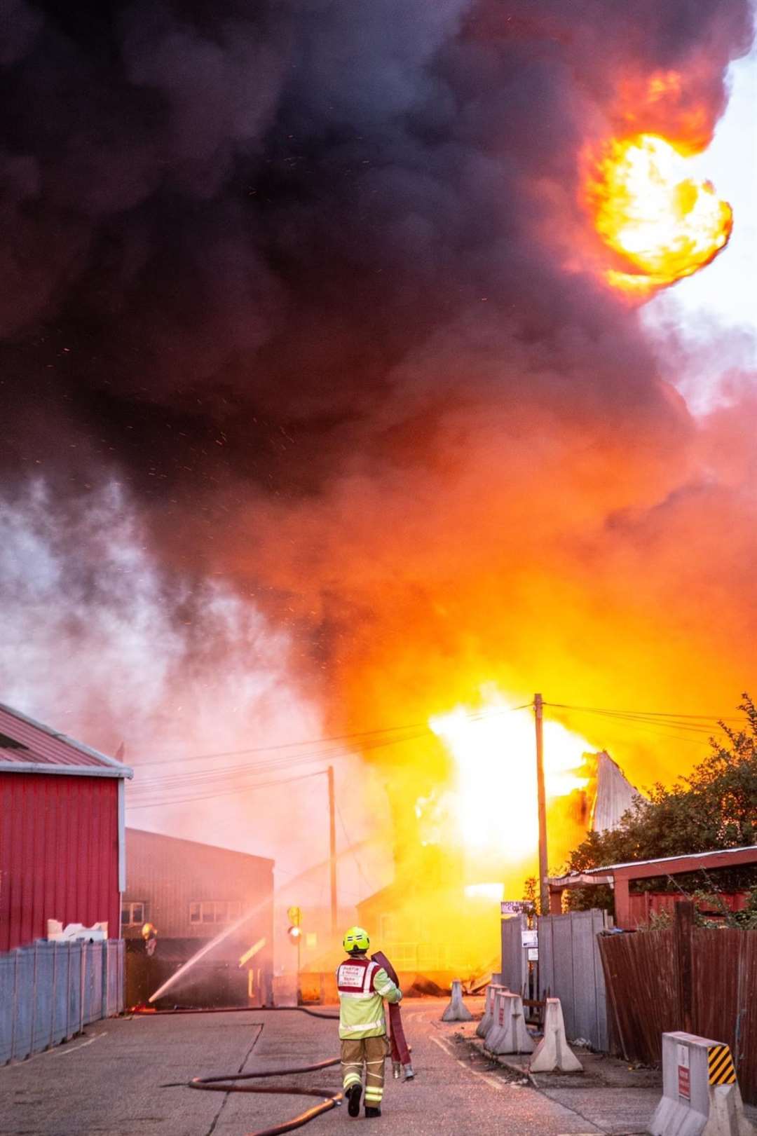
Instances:
[[[617,1122],[621,1099],[617,1108],[612,1102],[598,1106],[587,1096],[589,1089],[573,1097],[566,1089],[564,1099],[552,1099],[523,1084],[517,1074],[472,1050],[466,1041],[466,1035],[473,1035],[471,1026],[463,1030],[442,1024],[443,1004],[432,999],[404,1004],[417,1076],[407,1084],[394,1081],[391,1063],[386,1063],[381,1119],[366,1120],[361,1114],[352,1120],[342,1105],[303,1131],[326,1136],[356,1125],[358,1133],[371,1126],[385,1136],[621,1136],[641,1130],[635,1113]],[[188,1088],[186,1081],[196,1076],[308,1064],[338,1052],[335,1022],[296,1012],[255,1010],[98,1022],[84,1038],[0,1069],[0,1133],[249,1136],[315,1102],[288,1095],[198,1092]],[[297,1078],[276,1077],[273,1083],[338,1091],[340,1072],[336,1067]],[[650,1102],[654,1105],[651,1096]]]

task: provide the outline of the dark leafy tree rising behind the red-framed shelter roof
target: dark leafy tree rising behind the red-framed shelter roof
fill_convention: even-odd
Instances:
[[[715,849],[757,844],[757,708],[743,695],[740,729],[718,722],[723,734],[710,738],[710,753],[688,777],[671,787],[652,787],[649,799],[637,797],[617,828],[589,833],[571,853],[568,870],[585,871],[604,864],[658,857],[709,852]],[[755,868],[718,870],[717,884],[707,872],[676,877],[684,891],[732,891],[757,884]],[[639,883],[644,891],[667,891],[667,878]],[[612,907],[609,888],[568,892],[573,909]]]

